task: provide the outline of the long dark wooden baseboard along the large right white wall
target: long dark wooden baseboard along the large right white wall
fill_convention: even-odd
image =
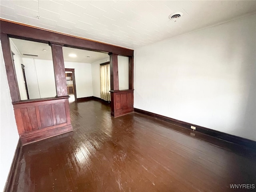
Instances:
[[[173,123],[175,125],[182,126],[184,128],[189,128],[190,129],[190,126],[195,126],[196,127],[195,131],[197,131],[197,132],[200,132],[200,133],[203,133],[203,134],[206,134],[206,135],[210,135],[210,136],[213,136],[215,138],[225,140],[227,142],[231,142],[231,143],[234,143],[234,144],[238,144],[238,145],[256,150],[256,141],[253,141],[253,140],[249,140],[249,139],[246,139],[246,138],[234,136],[234,135],[227,134],[227,133],[224,133],[224,132],[212,130],[212,129],[209,129],[209,128],[205,128],[205,127],[198,126],[198,125],[195,125],[195,124],[191,124],[191,123],[187,123],[187,122],[184,122],[184,121],[176,120],[176,119],[173,119],[173,118],[170,118],[170,117],[162,116],[162,115],[159,115],[159,114],[155,114],[155,113],[144,111],[144,110],[137,109],[137,108],[134,108],[134,112],[145,114],[147,116],[151,116],[151,117],[154,117],[154,118],[166,121],[166,122],[170,122],[170,123]]]

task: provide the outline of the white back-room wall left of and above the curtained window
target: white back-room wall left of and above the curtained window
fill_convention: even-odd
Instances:
[[[109,58],[92,63],[92,89],[93,96],[100,98],[100,64],[106,63]]]

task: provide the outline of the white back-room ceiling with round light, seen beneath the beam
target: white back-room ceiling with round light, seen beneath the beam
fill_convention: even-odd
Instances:
[[[10,40],[13,42],[17,50],[20,52],[21,56],[24,58],[52,60],[52,49],[48,44],[14,39],[14,38],[10,38]],[[43,49],[45,49],[46,51],[43,51]],[[81,62],[81,63],[92,63],[92,62],[103,60],[103,59],[106,59],[106,62],[107,60],[109,61],[109,56],[106,53],[80,50],[80,49],[74,49],[69,47],[63,47],[62,50],[63,50],[64,61]],[[35,54],[35,55],[38,55],[38,57],[24,56],[22,53]],[[72,58],[68,56],[69,54],[76,54],[77,57]]]

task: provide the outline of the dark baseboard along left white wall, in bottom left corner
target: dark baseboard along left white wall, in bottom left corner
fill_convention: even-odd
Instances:
[[[4,187],[4,192],[10,192],[12,191],[12,187],[14,186],[14,178],[16,177],[17,170],[18,170],[18,165],[20,164],[20,157],[21,157],[21,151],[22,151],[22,144],[20,139],[18,140],[18,144],[16,146],[16,150],[14,153],[14,157],[12,160],[10,172],[8,174],[6,184]]]

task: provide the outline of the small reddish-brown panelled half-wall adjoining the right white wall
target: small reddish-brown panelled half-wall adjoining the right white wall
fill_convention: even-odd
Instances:
[[[133,91],[118,90],[110,91],[111,94],[111,116],[118,117],[134,111],[133,108]]]

